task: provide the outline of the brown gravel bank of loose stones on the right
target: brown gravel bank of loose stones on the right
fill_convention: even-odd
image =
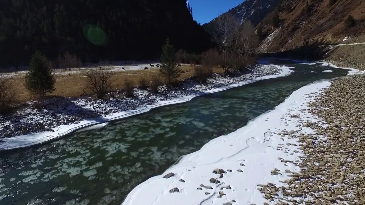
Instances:
[[[365,204],[364,99],[365,75],[333,80],[303,111],[318,119],[298,126],[310,127],[316,134],[283,134],[300,143],[301,161],[288,163],[301,172],[286,170],[287,186],[268,183],[260,188],[264,197],[275,204]]]

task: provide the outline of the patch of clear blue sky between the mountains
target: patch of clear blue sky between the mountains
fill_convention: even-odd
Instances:
[[[188,0],[193,8],[194,19],[201,24],[208,23],[221,12],[226,12],[244,0]]]

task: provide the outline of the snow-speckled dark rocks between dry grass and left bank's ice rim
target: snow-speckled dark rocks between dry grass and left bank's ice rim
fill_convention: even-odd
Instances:
[[[197,84],[193,78],[182,85],[160,92],[134,89],[133,98],[127,98],[122,91],[113,93],[107,100],[94,100],[92,97],[58,98],[46,102],[43,109],[34,109],[31,105],[23,107],[8,116],[0,115],[0,138],[27,135],[42,131],[54,131],[59,125],[78,124],[84,119],[98,119],[112,113],[135,110],[159,101],[199,94],[202,91],[235,84],[245,80],[278,73],[278,67],[272,65],[256,65],[250,74],[237,71],[233,75],[216,74],[204,85]]]

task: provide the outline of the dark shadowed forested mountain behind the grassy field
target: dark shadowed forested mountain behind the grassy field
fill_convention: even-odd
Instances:
[[[1,0],[0,22],[0,66],[27,64],[37,49],[95,62],[158,58],[167,37],[188,52],[210,46],[186,0]]]

